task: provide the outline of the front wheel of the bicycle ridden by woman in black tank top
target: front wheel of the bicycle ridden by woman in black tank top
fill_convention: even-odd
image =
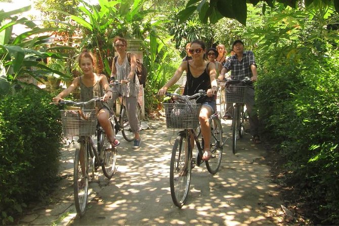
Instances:
[[[172,151],[170,187],[173,203],[182,207],[188,197],[191,182],[192,152],[185,134],[178,135]]]

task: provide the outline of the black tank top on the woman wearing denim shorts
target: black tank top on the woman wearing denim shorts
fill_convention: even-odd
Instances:
[[[187,61],[187,81],[185,84],[185,89],[184,89],[184,95],[193,95],[199,92],[199,90],[204,90],[207,92],[208,89],[211,88],[210,86],[210,78],[208,75],[208,65],[209,62],[207,63],[207,66],[205,70],[200,74],[198,78],[194,78],[192,76],[191,70],[190,70],[190,64]],[[212,101],[214,98],[213,97],[205,97],[201,99],[199,102],[205,102],[205,101]]]

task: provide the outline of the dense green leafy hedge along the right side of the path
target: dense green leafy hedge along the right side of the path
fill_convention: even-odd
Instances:
[[[265,132],[280,144],[286,182],[308,217],[339,224],[339,55],[273,65],[257,84]]]

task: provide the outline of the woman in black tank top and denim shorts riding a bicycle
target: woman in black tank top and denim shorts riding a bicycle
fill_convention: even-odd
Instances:
[[[172,79],[158,91],[158,95],[164,95],[167,89],[173,86],[180,79],[183,72],[186,71],[187,82],[184,95],[193,95],[198,93],[199,90],[207,92],[207,97],[199,101],[201,103],[199,121],[204,142],[209,144],[210,127],[208,118],[216,110],[215,95],[218,90],[216,66],[214,63],[204,60],[205,44],[201,40],[195,40],[191,43],[190,53],[193,59],[180,64]],[[208,161],[211,158],[209,148],[209,145],[204,145],[204,154],[202,156],[204,161]]]

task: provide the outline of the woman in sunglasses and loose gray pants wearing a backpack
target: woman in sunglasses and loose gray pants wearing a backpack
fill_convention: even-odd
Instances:
[[[136,149],[139,148],[141,144],[139,135],[140,122],[137,110],[140,88],[139,79],[136,78],[137,57],[134,53],[130,53],[130,57],[128,57],[128,53],[126,52],[127,41],[122,37],[115,37],[113,45],[118,56],[112,63],[111,80],[113,78],[113,80],[116,79],[124,84],[119,85],[117,88],[113,87],[113,89],[117,89],[117,93],[124,98],[127,116],[135,136],[133,148]],[[116,97],[113,97],[113,99],[115,98]]]

